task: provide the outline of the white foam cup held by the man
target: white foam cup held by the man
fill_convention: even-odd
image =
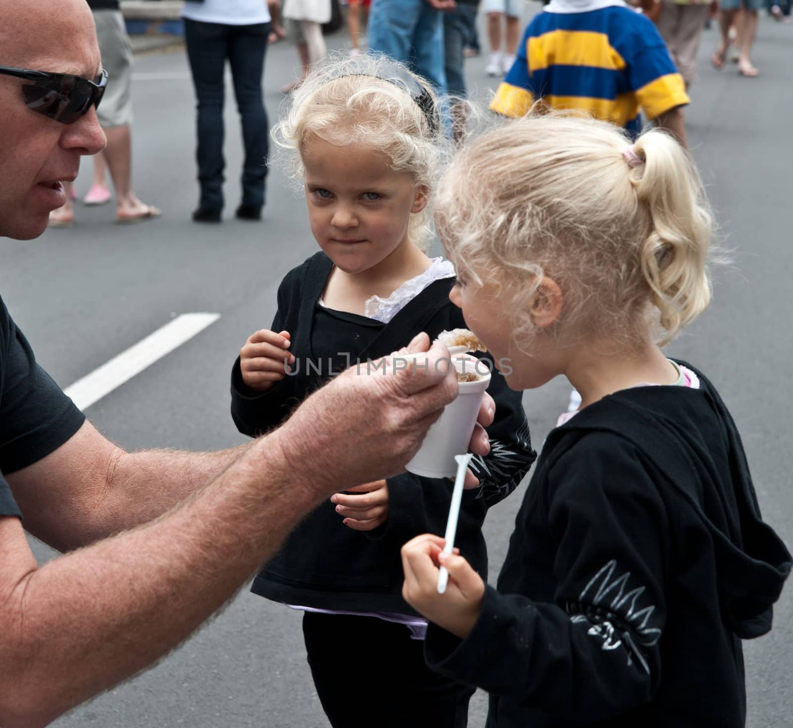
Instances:
[[[452,364],[459,373],[475,373],[479,379],[458,382],[457,398],[446,405],[443,414],[428,430],[419,452],[406,466],[414,475],[454,478],[457,474],[454,455],[464,455],[469,450],[482,397],[490,384],[490,369],[485,361],[469,354],[453,356]]]

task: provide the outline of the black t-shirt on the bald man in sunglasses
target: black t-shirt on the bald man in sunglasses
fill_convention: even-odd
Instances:
[[[21,516],[4,475],[74,435],[85,415],[44,372],[0,298],[0,516]]]

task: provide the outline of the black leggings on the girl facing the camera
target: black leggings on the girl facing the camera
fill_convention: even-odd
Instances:
[[[465,728],[474,688],[433,672],[404,624],[305,612],[317,695],[333,728]]]

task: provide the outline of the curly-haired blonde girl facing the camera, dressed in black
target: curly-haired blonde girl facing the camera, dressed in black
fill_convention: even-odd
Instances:
[[[287,102],[274,138],[320,251],[285,276],[274,322],[234,365],[241,432],[278,426],[351,364],[365,371],[417,334],[465,326],[449,299],[453,266],[425,252],[445,144],[437,105],[422,78],[370,55],[320,64]],[[472,461],[460,518],[482,574],[485,513],[534,460],[520,394],[493,379],[491,451]],[[305,612],[308,664],[333,726],[465,726],[473,688],[427,668],[427,622],[401,596],[401,545],[443,528],[450,500],[450,482],[409,473],[335,494],[255,578],[255,593]]]

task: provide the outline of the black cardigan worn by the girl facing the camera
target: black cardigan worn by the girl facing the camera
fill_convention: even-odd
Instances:
[[[298,360],[315,358],[312,327],[331,268],[331,260],[324,253],[316,253],[285,276],[278,288],[278,312],[271,328],[289,331],[289,351]],[[453,279],[430,284],[382,326],[373,341],[351,352],[353,360],[384,356],[421,331],[435,337],[442,330],[465,326],[462,313],[449,300],[453,284]],[[354,323],[340,321],[339,326]],[[238,358],[232,370],[232,417],[240,432],[256,436],[278,426],[297,403],[325,381],[326,375],[307,375],[304,369],[301,375],[287,376],[258,394],[243,383]],[[496,420],[488,428],[491,453],[472,460],[481,486],[463,495],[455,542],[485,577],[487,549],[481,533],[485,513],[490,505],[515,490],[535,457],[521,394],[511,391],[496,371],[488,393],[496,401]],[[262,597],[307,607],[415,614],[401,596],[400,547],[420,533],[442,535],[452,483],[404,473],[389,478],[388,486],[386,524],[373,532],[353,531],[343,525],[328,501],[297,527],[282,551],[256,577],[252,590]]]

